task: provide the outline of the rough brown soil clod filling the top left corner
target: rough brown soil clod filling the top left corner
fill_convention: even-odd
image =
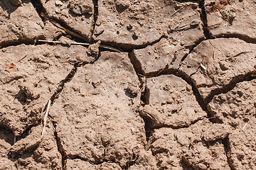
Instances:
[[[19,40],[33,42],[43,35],[43,22],[29,0],[20,6],[0,1],[0,13],[0,45]]]

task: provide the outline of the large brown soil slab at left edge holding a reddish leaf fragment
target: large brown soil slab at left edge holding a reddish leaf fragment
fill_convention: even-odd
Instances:
[[[84,55],[86,51],[82,46],[50,45],[18,45],[6,47],[4,52],[1,50],[0,124],[10,128],[16,136],[38,124],[58,83],[68,75],[73,62],[78,61],[76,58],[82,56],[79,52]],[[87,59],[93,60],[92,57]],[[4,70],[10,63],[16,64],[18,72]]]

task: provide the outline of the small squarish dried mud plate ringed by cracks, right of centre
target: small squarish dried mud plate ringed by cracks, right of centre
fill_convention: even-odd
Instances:
[[[174,75],[162,75],[146,80],[148,102],[140,112],[152,126],[181,128],[206,117],[196,102],[191,86]]]

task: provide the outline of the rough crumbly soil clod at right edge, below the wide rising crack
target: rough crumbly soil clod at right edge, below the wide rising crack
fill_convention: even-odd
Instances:
[[[214,96],[208,108],[220,122],[240,127],[256,115],[255,91],[256,81],[236,84],[226,94]]]

